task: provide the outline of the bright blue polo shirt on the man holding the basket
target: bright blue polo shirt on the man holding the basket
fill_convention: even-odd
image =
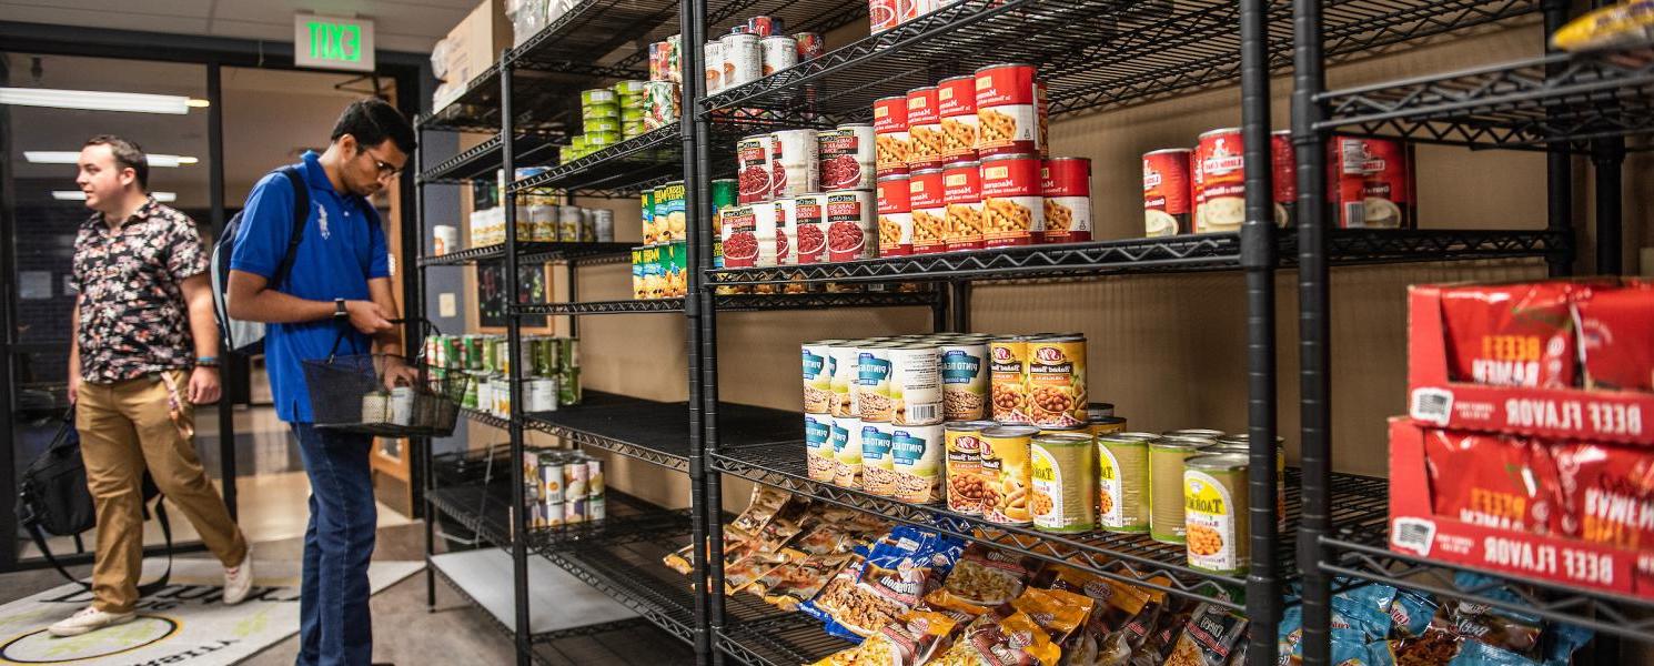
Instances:
[[[276,291],[306,301],[366,301],[367,281],[390,276],[385,231],[372,203],[339,193],[314,152],[298,164],[309,183],[311,212],[304,221],[293,268]],[[230,269],[271,279],[293,236],[293,185],[280,172],[265,175],[246,197],[241,230],[230,255]],[[367,354],[372,340],[332,319],[304,324],[270,324],[265,331],[265,367],[276,415],[288,423],[313,423],[303,360],[326,359],[339,334],[339,354]]]

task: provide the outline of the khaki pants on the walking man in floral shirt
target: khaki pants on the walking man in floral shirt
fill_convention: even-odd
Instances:
[[[169,370],[180,392],[189,373]],[[218,489],[195,458],[194,407],[179,397],[179,423],[167,407],[169,388],[160,375],[116,383],[81,382],[74,426],[81,433],[86,486],[98,511],[98,564],[93,565],[93,607],[111,613],[137,603],[137,577],[144,564],[144,469],[160,492],[184,511],[207,549],[225,567],[246,559],[246,540]]]

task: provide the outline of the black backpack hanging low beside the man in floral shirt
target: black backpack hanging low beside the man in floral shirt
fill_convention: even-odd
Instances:
[[[144,473],[144,517],[149,519],[149,501],[160,496],[155,481]],[[160,578],[139,585],[139,597],[152,595],[167,587],[172,577],[172,522],[167,521],[165,502],[155,502],[155,521],[160,521],[160,534],[167,539],[167,570]],[[69,582],[91,590],[51,555],[46,545],[46,534],[74,537],[81,547],[81,532],[98,526],[98,512],[93,509],[93,492],[86,489],[86,463],[81,461],[81,435],[74,430],[74,408],[63,416],[58,435],[51,438],[46,451],[35,458],[23,471],[23,484],[17,501],[17,522],[35,539],[35,547],[51,562],[51,567]]]

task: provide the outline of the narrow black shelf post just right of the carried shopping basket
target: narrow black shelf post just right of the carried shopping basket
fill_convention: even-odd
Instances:
[[[516,127],[511,109],[511,50],[500,53],[500,169],[504,170],[506,183],[516,174]],[[523,461],[523,321],[513,311],[518,302],[518,238],[516,238],[516,195],[506,187],[500,197],[506,216],[506,350],[509,352],[509,385],[511,421],[506,430],[511,433],[511,464]],[[518,666],[529,666],[529,618],[528,618],[528,497],[523,492],[523,479],[506,474],[516,483],[511,484],[511,588],[513,608],[516,610],[516,654]]]

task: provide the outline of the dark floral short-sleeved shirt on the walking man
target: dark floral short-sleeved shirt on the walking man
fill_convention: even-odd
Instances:
[[[111,230],[93,213],[74,238],[81,378],[112,383],[195,365],[185,278],[207,273],[195,221],[154,198]]]

